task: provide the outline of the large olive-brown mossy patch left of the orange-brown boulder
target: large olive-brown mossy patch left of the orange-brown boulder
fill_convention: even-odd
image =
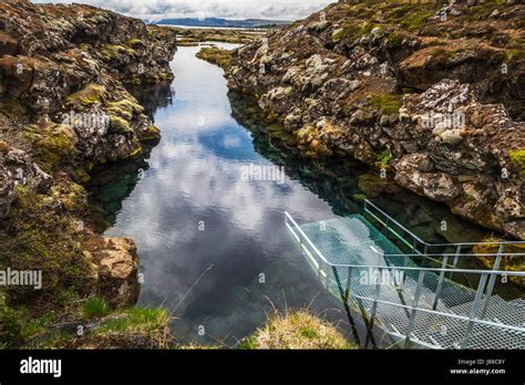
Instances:
[[[53,186],[51,196],[18,191],[10,212],[17,219],[10,221],[9,233],[0,231],[0,266],[9,261],[12,269],[42,270],[43,292],[81,287],[91,277],[83,250],[75,241],[78,225],[64,215],[64,206],[74,206],[73,201],[84,205],[80,204],[81,197],[69,196],[72,189],[75,188]],[[22,287],[16,292],[20,296],[34,294],[32,289]]]

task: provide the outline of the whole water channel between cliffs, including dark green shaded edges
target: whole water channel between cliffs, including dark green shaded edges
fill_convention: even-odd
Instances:
[[[228,96],[223,70],[195,58],[198,50],[179,48],[175,81],[137,94],[162,131],[161,143],[93,178],[92,200],[110,225],[105,235],[137,243],[138,304],[172,311],[183,342],[235,346],[275,309],[305,306],[364,342],[362,320],[320,287],[286,232],[284,212],[303,223],[359,211],[352,197],[362,192],[359,176],[367,170],[352,162],[305,159],[272,143],[256,108]],[[246,180],[250,165],[284,166],[285,183]],[[430,241],[444,240],[443,219],[463,240],[482,236],[442,205],[408,191],[374,199]]]

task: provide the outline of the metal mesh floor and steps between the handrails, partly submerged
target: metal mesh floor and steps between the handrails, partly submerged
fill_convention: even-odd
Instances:
[[[524,300],[505,301],[491,295],[483,320],[494,324],[472,322],[469,316],[476,291],[447,278],[440,284],[440,273],[432,271],[424,273],[420,285],[419,266],[402,256],[403,251],[363,216],[306,223],[300,229],[328,262],[316,260],[313,252],[307,252],[307,260],[321,283],[338,298],[349,290],[351,299],[369,315],[375,308],[375,323],[387,333],[404,337],[410,332],[412,342],[435,348],[525,348]],[[415,269],[403,272],[397,269],[400,267]],[[481,318],[487,298],[480,300],[476,318]],[[413,305],[418,308],[414,312]]]

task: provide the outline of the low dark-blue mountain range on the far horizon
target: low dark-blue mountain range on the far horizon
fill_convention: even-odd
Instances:
[[[151,22],[147,21],[146,22]],[[151,22],[153,23],[153,22]],[[246,19],[246,20],[228,20],[219,18],[181,18],[181,19],[163,19],[155,21],[155,24],[183,25],[183,27],[217,27],[217,28],[261,28],[261,27],[282,27],[290,23],[285,20],[264,20],[264,19]]]

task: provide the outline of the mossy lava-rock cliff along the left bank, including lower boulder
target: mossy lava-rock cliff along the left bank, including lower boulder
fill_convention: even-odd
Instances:
[[[12,302],[71,288],[136,301],[136,248],[91,230],[82,185],[158,141],[125,86],[173,79],[175,50],[169,29],[114,12],[0,2],[0,268],[43,275],[42,291],[12,288]]]

